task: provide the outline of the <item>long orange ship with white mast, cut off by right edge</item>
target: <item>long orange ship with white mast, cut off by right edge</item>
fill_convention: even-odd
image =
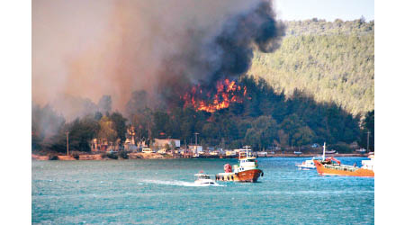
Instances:
[[[322,160],[313,160],[320,175],[351,175],[374,177],[374,156],[370,156],[371,160],[363,160],[362,167],[341,165],[340,161],[335,157],[328,157],[325,159],[325,148],[326,144],[323,145]]]

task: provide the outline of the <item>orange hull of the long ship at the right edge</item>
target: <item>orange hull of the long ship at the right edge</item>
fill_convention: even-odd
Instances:
[[[320,175],[348,175],[348,176],[368,176],[374,177],[374,171],[364,168],[356,168],[353,171],[342,169],[328,168],[321,164],[318,160],[314,160],[315,166],[317,166],[318,174]],[[338,166],[339,167],[339,166]]]

